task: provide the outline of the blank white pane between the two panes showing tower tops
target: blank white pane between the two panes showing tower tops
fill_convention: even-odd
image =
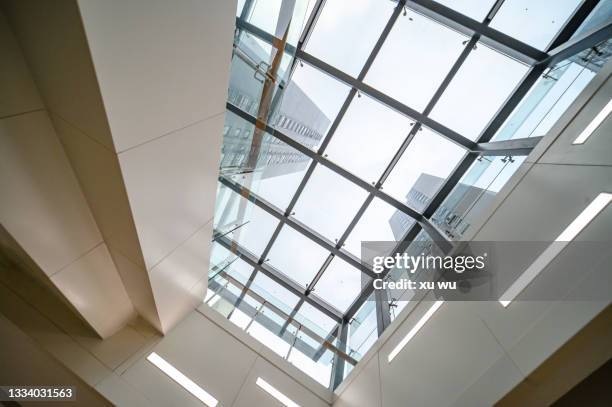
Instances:
[[[368,96],[353,98],[325,152],[348,171],[376,182],[408,136],[410,123]]]

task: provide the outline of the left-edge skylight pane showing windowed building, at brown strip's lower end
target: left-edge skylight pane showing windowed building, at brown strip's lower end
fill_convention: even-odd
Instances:
[[[268,133],[254,142],[254,126],[231,112],[225,115],[225,127],[221,174],[286,208],[310,158]]]

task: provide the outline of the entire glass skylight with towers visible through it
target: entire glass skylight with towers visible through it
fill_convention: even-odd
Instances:
[[[525,160],[495,143],[544,136],[611,54],[545,58],[589,2],[436,3],[239,2],[205,302],[324,386],[416,301],[372,291],[362,242],[469,236]]]

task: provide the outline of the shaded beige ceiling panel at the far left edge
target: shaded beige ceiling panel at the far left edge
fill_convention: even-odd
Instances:
[[[2,13],[0,54],[0,222],[30,267],[109,336],[134,309]]]

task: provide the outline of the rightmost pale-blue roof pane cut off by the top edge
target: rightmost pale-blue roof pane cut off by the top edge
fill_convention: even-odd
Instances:
[[[580,0],[505,0],[491,28],[539,49],[546,49],[572,16]]]

